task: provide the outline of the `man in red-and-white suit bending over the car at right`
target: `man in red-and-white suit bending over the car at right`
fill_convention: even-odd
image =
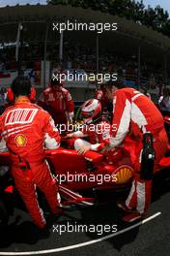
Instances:
[[[115,147],[124,143],[125,148],[130,152],[136,171],[126,203],[118,204],[118,207],[128,212],[124,220],[132,222],[144,217],[151,203],[152,180],[142,180],[138,173],[143,134],[146,132],[153,134],[156,151],[155,165],[164,156],[168,139],[163,117],[147,96],[133,88],[124,88],[121,80],[109,81],[106,84],[106,91],[108,98],[113,100],[112,125],[117,128],[112,132],[110,146]],[[133,148],[132,144],[126,143],[129,137]]]

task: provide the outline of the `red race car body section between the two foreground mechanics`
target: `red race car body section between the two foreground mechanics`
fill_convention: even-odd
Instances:
[[[46,159],[59,182],[65,205],[92,205],[94,197],[83,197],[81,191],[120,189],[130,184],[134,170],[128,151],[123,147],[113,150],[112,162],[106,163],[101,153],[88,151],[78,155],[76,150],[68,149],[71,147],[69,139],[63,139],[62,144],[64,147],[47,150]]]

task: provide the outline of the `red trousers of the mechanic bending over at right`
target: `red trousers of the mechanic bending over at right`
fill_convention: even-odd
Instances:
[[[154,148],[156,150],[156,160],[155,160],[155,171],[156,165],[160,159],[165,155],[167,150],[168,139],[164,129],[162,129],[158,134],[153,135],[154,137]],[[133,152],[132,162],[136,174],[132,182],[132,186],[126,201],[128,208],[136,208],[136,210],[143,214],[148,211],[151,204],[151,194],[152,194],[152,180],[141,180],[138,172],[140,171],[140,158],[141,158],[142,144],[134,143],[134,148],[130,148],[130,153]],[[136,160],[134,161],[134,155],[136,155]]]

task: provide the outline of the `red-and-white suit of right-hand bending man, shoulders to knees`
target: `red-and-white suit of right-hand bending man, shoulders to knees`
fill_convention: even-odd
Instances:
[[[126,144],[132,162],[139,171],[139,155],[142,148],[143,134],[151,132],[154,137],[156,150],[156,163],[164,156],[167,148],[167,135],[164,130],[164,121],[155,104],[144,94],[133,88],[116,90],[113,98],[113,121],[112,126],[116,129],[111,132],[111,146],[122,144],[124,139],[132,136],[132,145]],[[127,138],[128,138],[127,137]]]

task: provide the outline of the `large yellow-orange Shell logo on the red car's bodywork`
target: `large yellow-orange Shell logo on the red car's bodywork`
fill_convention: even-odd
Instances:
[[[114,175],[116,175],[116,184],[124,184],[129,181],[129,179],[133,176],[134,170],[128,166],[120,166],[118,169],[115,170]]]

